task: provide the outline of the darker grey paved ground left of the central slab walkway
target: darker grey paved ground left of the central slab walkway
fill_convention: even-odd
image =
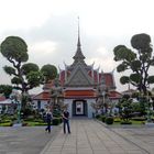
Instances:
[[[0,154],[40,154],[58,132],[45,132],[45,127],[0,127]]]

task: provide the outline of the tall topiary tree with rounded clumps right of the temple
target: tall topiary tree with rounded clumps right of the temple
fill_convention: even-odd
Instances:
[[[131,84],[146,95],[150,84],[154,84],[154,76],[148,75],[150,67],[154,66],[151,37],[144,33],[133,35],[131,45],[135,51],[124,45],[118,45],[113,50],[114,61],[121,62],[117,70],[119,73],[129,69],[132,72],[129,76],[122,76],[120,82],[123,85]]]

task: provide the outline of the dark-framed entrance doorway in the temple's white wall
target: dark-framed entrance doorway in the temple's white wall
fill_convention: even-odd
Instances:
[[[73,101],[73,116],[87,116],[87,101],[74,100]]]

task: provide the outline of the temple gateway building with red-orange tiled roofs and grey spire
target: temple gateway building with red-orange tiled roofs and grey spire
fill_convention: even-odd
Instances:
[[[59,68],[61,86],[55,86],[53,81],[44,85],[43,91],[33,98],[33,103],[41,110],[54,101],[63,101],[67,105],[70,117],[85,116],[92,118],[96,109],[92,107],[98,101],[105,102],[108,92],[108,102],[114,103],[121,95],[116,91],[113,73],[103,73],[94,69],[92,65],[85,63],[81,51],[80,37],[78,33],[77,50],[72,65],[65,64],[65,69]],[[62,92],[55,98],[51,95],[51,89],[59,89]],[[57,100],[61,99],[61,100]]]

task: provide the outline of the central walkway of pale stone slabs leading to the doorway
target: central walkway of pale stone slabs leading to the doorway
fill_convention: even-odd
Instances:
[[[41,154],[154,154],[154,151],[150,153],[139,146],[139,140],[127,131],[119,134],[118,130],[108,129],[95,120],[70,120],[70,129],[72,134],[64,134],[61,130]]]

